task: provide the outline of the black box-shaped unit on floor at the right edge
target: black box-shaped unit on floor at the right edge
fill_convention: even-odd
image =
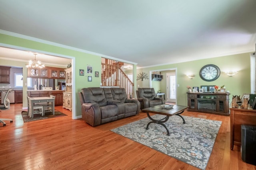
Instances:
[[[241,125],[241,158],[256,165],[256,126]]]

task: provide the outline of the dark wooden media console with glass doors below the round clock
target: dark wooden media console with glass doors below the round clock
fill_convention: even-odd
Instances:
[[[188,111],[229,116],[229,93],[190,93]]]

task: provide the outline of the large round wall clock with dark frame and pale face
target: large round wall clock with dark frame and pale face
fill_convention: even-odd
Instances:
[[[200,70],[200,77],[207,82],[211,82],[219,78],[220,68],[214,64],[207,64]]]

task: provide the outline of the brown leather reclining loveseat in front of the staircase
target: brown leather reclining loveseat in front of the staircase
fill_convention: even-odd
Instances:
[[[83,88],[79,92],[82,119],[91,126],[137,115],[140,102],[128,99],[124,88]]]

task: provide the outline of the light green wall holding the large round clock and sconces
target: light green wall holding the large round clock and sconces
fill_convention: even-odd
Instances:
[[[220,68],[221,74],[217,80],[206,82],[200,78],[199,71],[206,64],[215,64]],[[186,92],[188,89],[186,86],[200,87],[202,85],[225,85],[226,90],[230,91],[230,98],[232,98],[232,95],[241,95],[242,97],[242,94],[250,93],[250,53],[140,68],[137,69],[137,73],[143,71],[149,74],[149,72],[152,70],[168,70],[170,68],[177,69],[177,84],[179,84],[179,87],[177,87],[178,105],[187,105]],[[225,74],[225,71],[230,70],[238,70],[238,73],[232,77],[229,77]],[[158,88],[161,88],[162,92],[166,93],[166,72],[171,71],[161,72],[164,75],[163,80],[161,82],[153,81],[152,87],[156,88],[155,91],[159,90]],[[186,74],[196,74],[196,76],[193,79],[190,79],[186,76]],[[137,84],[139,87],[149,87],[150,81],[151,80],[138,80]]]

